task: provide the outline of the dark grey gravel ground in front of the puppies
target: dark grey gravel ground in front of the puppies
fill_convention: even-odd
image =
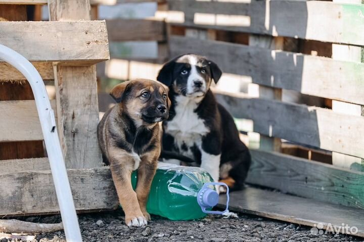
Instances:
[[[59,215],[24,219],[43,223],[60,222]],[[123,219],[121,211],[79,215],[83,241],[364,241],[362,238],[344,234],[313,235],[310,233],[310,228],[306,226],[245,214],[239,214],[237,219],[207,216],[197,221],[170,221],[153,216],[152,221],[144,228],[128,228]],[[36,239],[29,241],[65,242],[66,240],[63,232],[54,232],[38,234]]]

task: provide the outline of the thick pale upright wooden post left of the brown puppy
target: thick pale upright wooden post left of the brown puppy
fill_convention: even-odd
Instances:
[[[89,0],[48,0],[51,21],[90,20]],[[72,37],[72,36],[70,36]],[[69,169],[102,165],[96,67],[54,64],[58,130]]]

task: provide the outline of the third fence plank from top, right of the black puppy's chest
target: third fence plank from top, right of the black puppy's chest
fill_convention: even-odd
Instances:
[[[364,158],[364,117],[233,93],[216,92],[216,100],[235,118],[253,120],[255,132]]]

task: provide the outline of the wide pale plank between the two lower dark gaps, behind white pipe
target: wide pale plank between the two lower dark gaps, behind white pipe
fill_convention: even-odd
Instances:
[[[51,100],[51,105],[55,110],[55,101]],[[0,102],[0,113],[0,141],[43,139],[35,101]]]

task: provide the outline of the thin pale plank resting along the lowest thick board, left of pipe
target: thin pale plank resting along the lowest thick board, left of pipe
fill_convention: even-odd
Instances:
[[[0,161],[0,175],[14,172],[51,170],[48,158],[31,158]]]

